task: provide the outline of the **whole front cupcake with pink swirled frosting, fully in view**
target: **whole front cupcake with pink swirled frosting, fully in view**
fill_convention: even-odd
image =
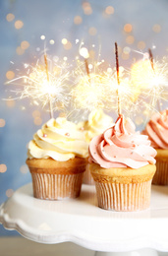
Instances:
[[[89,169],[102,209],[130,212],[149,207],[156,151],[135,128],[120,115],[113,127],[89,144]]]

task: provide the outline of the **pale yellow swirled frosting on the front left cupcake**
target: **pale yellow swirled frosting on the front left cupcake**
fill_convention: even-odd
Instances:
[[[29,159],[48,159],[66,161],[75,157],[86,158],[88,144],[84,133],[75,123],[66,118],[50,119],[33,136],[28,144]]]

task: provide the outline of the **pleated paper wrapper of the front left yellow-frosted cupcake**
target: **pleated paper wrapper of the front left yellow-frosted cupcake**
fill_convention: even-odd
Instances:
[[[39,199],[63,200],[80,196],[83,172],[48,174],[31,172],[33,196]]]

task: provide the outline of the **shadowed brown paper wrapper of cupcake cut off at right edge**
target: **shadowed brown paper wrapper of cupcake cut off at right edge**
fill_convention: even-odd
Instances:
[[[152,184],[168,185],[168,161],[156,160],[156,172]]]

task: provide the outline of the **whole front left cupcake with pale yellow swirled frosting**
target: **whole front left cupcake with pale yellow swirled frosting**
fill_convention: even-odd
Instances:
[[[66,118],[50,119],[28,144],[33,196],[62,200],[80,195],[88,144],[84,133]]]

